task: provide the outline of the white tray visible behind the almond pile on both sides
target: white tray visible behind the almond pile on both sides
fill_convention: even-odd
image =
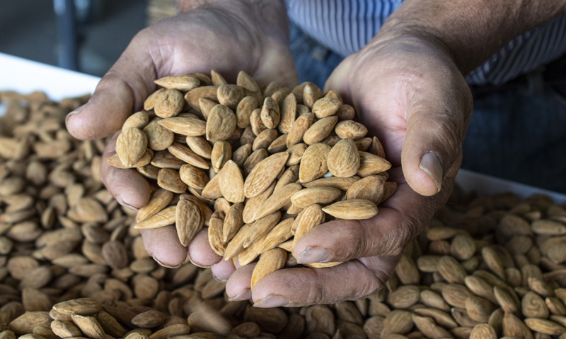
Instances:
[[[100,78],[96,76],[0,53],[0,90],[15,90],[18,93],[42,90],[52,100],[61,100],[64,97],[92,93],[98,81]],[[0,115],[2,111],[0,107]],[[533,194],[547,194],[556,203],[566,203],[564,194],[470,172],[466,169],[460,170],[456,177],[456,184],[464,192],[476,191],[479,195],[512,192],[526,197]]]

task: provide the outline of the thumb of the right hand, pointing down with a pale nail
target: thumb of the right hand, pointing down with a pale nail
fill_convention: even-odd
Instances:
[[[455,175],[451,172],[460,167],[472,112],[470,89],[466,84],[460,88],[451,89],[445,100],[421,99],[409,108],[401,164],[409,186],[423,196],[437,194],[446,174]]]

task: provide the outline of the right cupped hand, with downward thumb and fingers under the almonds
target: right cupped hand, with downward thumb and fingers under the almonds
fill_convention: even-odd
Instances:
[[[449,197],[472,97],[443,44],[424,35],[378,35],[335,69],[326,89],[338,90],[380,138],[398,190],[374,218],[327,222],[296,244],[299,263],[344,263],[279,270],[253,293],[251,268],[238,268],[226,286],[229,297],[251,297],[257,307],[365,297],[383,287],[405,245]]]

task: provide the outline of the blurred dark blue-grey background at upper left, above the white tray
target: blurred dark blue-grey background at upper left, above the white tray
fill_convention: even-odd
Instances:
[[[0,52],[103,76],[175,0],[0,0]]]

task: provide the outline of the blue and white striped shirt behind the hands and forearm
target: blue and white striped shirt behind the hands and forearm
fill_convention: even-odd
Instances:
[[[362,49],[403,0],[287,0],[289,20],[346,57]],[[566,12],[515,37],[471,71],[471,85],[502,85],[566,52]]]

